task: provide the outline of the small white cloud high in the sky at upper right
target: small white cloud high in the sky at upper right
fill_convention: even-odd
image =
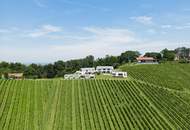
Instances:
[[[141,24],[150,25],[153,24],[152,17],[150,16],[137,16],[137,17],[130,17],[131,20],[139,22]]]

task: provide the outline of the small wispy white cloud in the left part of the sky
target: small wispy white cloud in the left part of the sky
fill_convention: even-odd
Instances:
[[[27,33],[26,35],[28,37],[41,37],[48,35],[50,33],[56,33],[56,32],[61,32],[62,28],[58,26],[53,26],[53,25],[42,25],[40,28],[35,29],[32,32]]]

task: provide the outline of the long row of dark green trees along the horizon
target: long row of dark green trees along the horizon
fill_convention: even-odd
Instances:
[[[82,67],[96,67],[96,66],[114,66],[135,62],[136,58],[140,56],[138,51],[126,51],[119,56],[106,55],[104,58],[95,59],[94,56],[89,55],[82,59],[75,59],[69,61],[57,61],[53,64],[39,65],[30,64],[24,65],[21,63],[0,63],[0,74],[9,72],[22,72],[26,78],[54,78],[63,77],[67,73],[73,73]],[[176,56],[175,50],[164,49],[160,53],[147,52],[144,56],[154,57],[158,61],[173,61]]]

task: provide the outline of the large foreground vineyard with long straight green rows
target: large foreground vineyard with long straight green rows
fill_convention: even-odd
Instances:
[[[190,129],[190,105],[137,80],[0,80],[2,130]]]

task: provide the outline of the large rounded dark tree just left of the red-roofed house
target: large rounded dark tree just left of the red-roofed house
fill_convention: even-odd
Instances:
[[[136,58],[140,56],[138,51],[126,51],[119,56],[120,63],[128,63],[136,61]]]

